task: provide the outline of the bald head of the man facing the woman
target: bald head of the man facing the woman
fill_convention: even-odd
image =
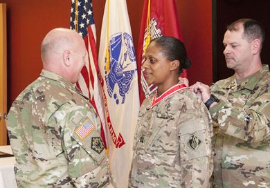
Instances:
[[[42,64],[47,71],[66,77],[71,82],[78,81],[78,74],[85,64],[86,49],[84,40],[75,31],[55,28],[48,32],[42,41]],[[83,59],[83,65],[82,64]],[[79,66],[80,70],[73,66]],[[76,71],[76,73],[73,73]]]

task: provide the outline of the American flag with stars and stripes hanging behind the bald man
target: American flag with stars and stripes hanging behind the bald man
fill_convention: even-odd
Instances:
[[[107,148],[105,140],[105,115],[102,103],[102,89],[98,75],[98,53],[96,49],[96,26],[93,19],[92,0],[71,0],[71,23],[70,28],[75,30],[84,39],[85,46],[89,53],[86,66],[82,68],[80,80],[77,83],[82,93],[89,97],[93,108],[100,117],[101,138]]]

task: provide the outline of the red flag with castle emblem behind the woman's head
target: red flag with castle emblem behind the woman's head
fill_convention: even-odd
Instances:
[[[177,19],[177,8],[174,0],[145,0],[143,7],[143,16],[141,19],[141,32],[138,40],[137,66],[138,77],[141,78],[139,84],[140,102],[145,97],[156,91],[156,86],[148,86],[145,77],[141,71],[144,63],[143,55],[151,39],[161,36],[176,37],[183,41]],[[181,77],[187,77],[186,70]]]

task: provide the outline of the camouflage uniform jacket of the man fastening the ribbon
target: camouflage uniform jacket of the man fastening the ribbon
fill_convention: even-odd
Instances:
[[[270,187],[268,66],[241,84],[233,75],[210,89],[220,100],[210,109],[215,132],[215,187]]]

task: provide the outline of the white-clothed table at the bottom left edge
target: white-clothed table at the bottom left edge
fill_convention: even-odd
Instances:
[[[14,164],[10,146],[0,146],[0,188],[17,188]]]

